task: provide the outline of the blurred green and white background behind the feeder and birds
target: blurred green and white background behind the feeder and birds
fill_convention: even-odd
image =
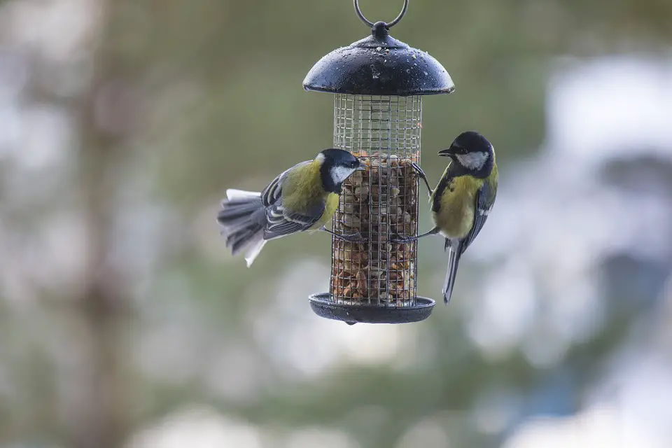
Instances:
[[[456,84],[424,100],[423,167],[479,130],[500,193],[449,307],[349,327],[307,302],[328,235],[247,269],[215,216],[331,146],[301,83],[369,33],[350,0],[0,0],[0,447],[672,446],[670,23],[410,0],[392,35]]]

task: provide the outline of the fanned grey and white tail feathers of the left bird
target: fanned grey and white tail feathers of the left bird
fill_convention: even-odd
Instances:
[[[221,225],[221,234],[226,239],[226,246],[232,255],[244,251],[247,266],[250,267],[266,244],[264,226],[266,214],[261,193],[226,190],[227,199],[222,201],[222,208],[217,214],[217,222]]]

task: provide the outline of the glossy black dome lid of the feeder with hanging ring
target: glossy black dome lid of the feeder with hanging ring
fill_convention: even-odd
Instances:
[[[385,22],[369,22],[371,36],[337,48],[320,59],[303,80],[305,90],[359,95],[442,94],[455,90],[448,71],[427,52],[411,48],[389,34],[389,29],[405,14],[408,1],[398,18]]]

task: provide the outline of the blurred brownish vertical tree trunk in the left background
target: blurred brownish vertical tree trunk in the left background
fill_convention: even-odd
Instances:
[[[87,369],[80,383],[82,398],[71,413],[71,442],[76,448],[116,448],[123,445],[131,419],[128,378],[130,303],[125,281],[109,261],[115,244],[114,197],[120,162],[135,119],[132,90],[123,54],[114,45],[116,26],[128,1],[101,0],[104,14],[93,48],[94,76],[77,102],[79,195],[85,215],[87,262],[81,296],[73,302],[81,322]]]

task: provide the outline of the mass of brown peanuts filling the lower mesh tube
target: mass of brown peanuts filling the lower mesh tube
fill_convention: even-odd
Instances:
[[[391,239],[417,230],[418,183],[411,165],[417,158],[355,155],[367,169],[344,183],[334,230],[360,232],[365,242],[333,240],[330,293],[343,303],[408,306],[416,295],[416,244]]]

